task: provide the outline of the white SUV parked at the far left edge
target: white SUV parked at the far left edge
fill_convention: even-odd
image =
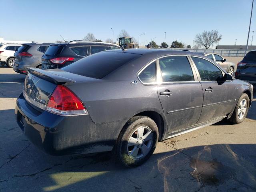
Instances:
[[[20,48],[21,44],[3,44],[0,47],[0,66],[7,64],[8,67],[14,65],[15,50]]]

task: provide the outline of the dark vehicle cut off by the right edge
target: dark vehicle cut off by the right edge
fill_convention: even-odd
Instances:
[[[256,50],[248,52],[237,64],[235,78],[256,84]]]

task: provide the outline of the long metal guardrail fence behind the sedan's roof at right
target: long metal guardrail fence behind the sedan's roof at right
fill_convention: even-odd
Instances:
[[[142,48],[142,46],[140,46]],[[145,47],[146,48],[146,47]],[[170,49],[182,51],[186,48],[152,48],[152,49]],[[188,49],[191,52],[218,53],[227,57],[244,57],[250,50],[229,50],[229,49]]]

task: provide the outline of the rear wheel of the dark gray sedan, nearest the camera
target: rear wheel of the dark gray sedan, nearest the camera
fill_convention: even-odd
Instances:
[[[114,152],[124,166],[136,167],[150,158],[157,142],[156,123],[149,117],[135,116],[122,129]]]

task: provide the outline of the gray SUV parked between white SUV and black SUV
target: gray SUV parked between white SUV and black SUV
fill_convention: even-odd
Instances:
[[[13,70],[27,74],[28,67],[42,68],[42,56],[52,43],[25,43],[14,53]]]

